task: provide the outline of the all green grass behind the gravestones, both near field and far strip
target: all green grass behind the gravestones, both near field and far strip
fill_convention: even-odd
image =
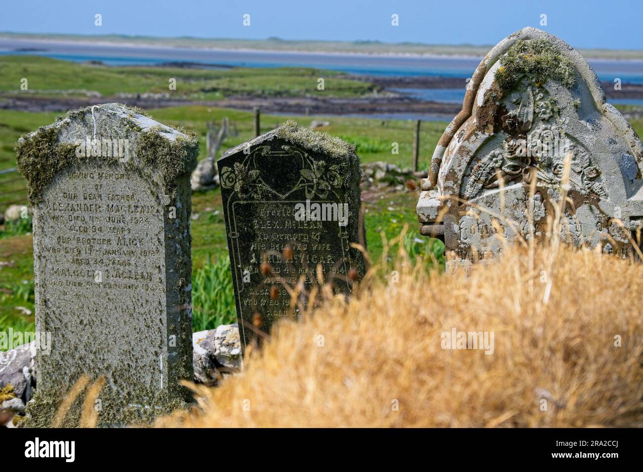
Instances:
[[[43,73],[44,71],[44,73]],[[65,91],[97,91],[103,96],[116,92],[167,91],[167,77],[176,76],[177,91],[185,97],[203,96],[208,100],[222,98],[227,93],[244,91],[266,95],[314,93],[316,78],[325,76],[326,91],[345,96],[361,96],[370,92],[367,82],[356,82],[338,77],[336,73],[312,69],[231,69],[203,71],[195,69],[165,69],[152,67],[105,67],[72,64],[46,58],[24,56],[0,57],[0,95],[19,89],[23,76],[32,76],[30,90],[42,96],[60,96]],[[41,81],[41,82],[40,82]],[[183,84],[183,85],[181,85]],[[208,87],[212,90],[208,91]],[[216,90],[214,90],[216,89]],[[0,98],[1,100],[1,98]],[[166,125],[185,127],[199,135],[200,157],[205,155],[205,133],[208,121],[230,120],[231,135],[222,150],[244,143],[253,137],[251,112],[189,105],[147,110]],[[15,166],[14,145],[17,139],[38,127],[55,121],[58,113],[32,113],[0,110],[0,171]],[[288,117],[262,115],[261,130],[267,132],[286,119],[294,119],[307,127],[312,119],[323,117]],[[401,167],[412,164],[413,122],[368,118],[323,118],[330,121],[323,131],[356,144],[362,162],[386,161]],[[420,167],[428,170],[430,156],[447,123],[422,123],[420,137]],[[631,120],[640,135],[643,119]],[[399,153],[392,153],[392,144],[399,144]],[[26,202],[26,182],[18,173],[0,175],[0,211],[12,203]],[[377,195],[366,204],[365,225],[368,250],[372,259],[383,252],[383,239],[397,236],[404,225],[409,232],[403,241],[412,256],[431,258],[442,252],[442,244],[419,236],[415,204],[418,192],[393,191]],[[222,215],[219,189],[195,193],[192,196],[192,263],[194,329],[213,328],[217,324],[233,322],[233,294],[228,270],[228,249]],[[33,251],[28,222],[0,226],[0,331],[8,328],[33,328]]]

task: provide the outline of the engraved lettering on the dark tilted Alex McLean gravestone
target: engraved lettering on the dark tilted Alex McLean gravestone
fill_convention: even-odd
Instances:
[[[232,205],[231,256],[244,319],[251,320],[253,313],[258,312],[264,323],[272,324],[276,318],[293,313],[289,293],[282,286],[275,297],[271,294],[271,282],[284,281],[294,287],[302,274],[309,275],[307,279],[316,277],[318,265],[325,281],[350,289],[345,283],[350,264],[347,233],[335,221],[297,221],[296,203],[242,201]],[[239,241],[246,240],[250,241],[249,246],[242,247]],[[284,255],[286,247],[291,254],[286,250]],[[271,267],[267,282],[260,273],[262,262]],[[336,278],[336,274],[343,277]],[[306,286],[310,288],[310,283]]]

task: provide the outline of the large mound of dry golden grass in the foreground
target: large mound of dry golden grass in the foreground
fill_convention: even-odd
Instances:
[[[550,243],[468,275],[399,271],[282,322],[158,426],[643,426],[643,265]],[[493,331],[494,353],[442,349],[454,327]]]

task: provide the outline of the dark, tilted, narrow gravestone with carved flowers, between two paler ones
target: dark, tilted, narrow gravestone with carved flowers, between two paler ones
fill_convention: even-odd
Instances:
[[[287,287],[350,292],[365,272],[359,249],[361,170],[355,148],[293,121],[217,162],[241,344],[296,316]],[[301,300],[298,300],[301,302]],[[305,303],[305,301],[304,301]]]

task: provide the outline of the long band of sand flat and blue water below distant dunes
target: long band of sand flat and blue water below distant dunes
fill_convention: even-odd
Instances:
[[[383,76],[444,76],[466,78],[473,74],[482,55],[421,53],[358,53],[338,51],[284,51],[270,49],[216,49],[171,47],[97,39],[78,42],[21,39],[0,33],[0,54],[37,54],[75,62],[100,61],[110,66],[160,65],[192,62],[204,66],[315,67],[351,74]],[[643,60],[590,59],[601,80],[619,77],[622,82],[643,83]]]

